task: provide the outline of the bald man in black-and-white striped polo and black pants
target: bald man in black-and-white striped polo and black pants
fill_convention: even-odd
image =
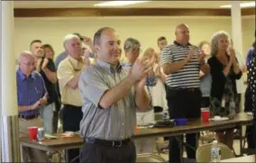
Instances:
[[[168,75],[167,100],[169,117],[199,118],[201,91],[199,89],[199,70],[206,75],[209,66],[205,62],[205,54],[189,43],[189,29],[186,24],[179,24],[175,31],[176,41],[161,51],[161,65]],[[198,134],[198,133],[197,133]],[[197,149],[197,134],[187,134],[187,144]],[[178,137],[181,139],[181,136]],[[196,150],[187,148],[187,158],[196,158]],[[180,162],[178,140],[169,138],[169,162]]]

